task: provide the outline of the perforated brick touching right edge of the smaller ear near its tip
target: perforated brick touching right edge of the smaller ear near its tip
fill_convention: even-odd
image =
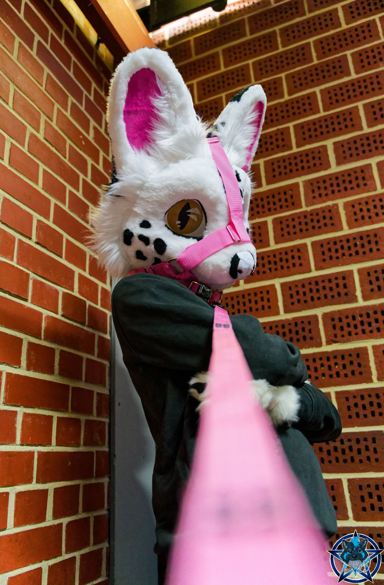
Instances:
[[[300,118],[307,118],[307,116],[312,116],[319,112],[317,94],[312,91],[297,98],[286,99],[278,104],[268,105],[263,129],[280,126]]]

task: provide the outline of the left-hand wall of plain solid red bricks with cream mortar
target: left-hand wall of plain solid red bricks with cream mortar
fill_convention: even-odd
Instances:
[[[105,585],[110,73],[58,0],[0,13],[0,583]]]

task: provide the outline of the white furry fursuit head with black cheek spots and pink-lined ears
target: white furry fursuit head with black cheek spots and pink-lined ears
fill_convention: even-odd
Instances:
[[[109,92],[112,180],[92,218],[92,247],[112,276],[175,259],[191,243],[227,226],[227,198],[208,135],[218,137],[235,172],[249,233],[249,167],[265,107],[262,87],[253,85],[235,95],[209,126],[196,115],[167,53],[144,48],[125,57]],[[240,242],[211,254],[191,272],[198,282],[223,290],[255,266],[255,247]]]

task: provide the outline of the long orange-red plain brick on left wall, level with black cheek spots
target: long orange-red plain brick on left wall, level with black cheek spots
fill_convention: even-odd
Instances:
[[[63,288],[74,288],[74,271],[71,268],[21,240],[18,246],[18,264]]]

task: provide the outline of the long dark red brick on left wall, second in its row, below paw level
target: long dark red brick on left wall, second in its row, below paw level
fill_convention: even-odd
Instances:
[[[37,452],[37,483],[73,481],[94,476],[94,453],[87,452]]]

